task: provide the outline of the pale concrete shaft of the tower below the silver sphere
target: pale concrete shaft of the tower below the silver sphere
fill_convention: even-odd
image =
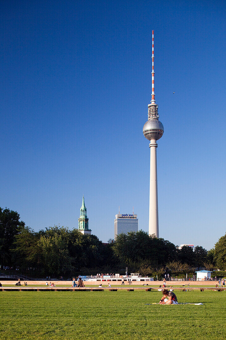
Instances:
[[[150,140],[150,193],[149,193],[149,228],[148,234],[158,238],[158,188],[157,188],[157,143]]]

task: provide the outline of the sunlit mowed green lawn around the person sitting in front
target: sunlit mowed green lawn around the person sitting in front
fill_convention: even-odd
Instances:
[[[225,339],[226,292],[0,292],[0,339]]]

